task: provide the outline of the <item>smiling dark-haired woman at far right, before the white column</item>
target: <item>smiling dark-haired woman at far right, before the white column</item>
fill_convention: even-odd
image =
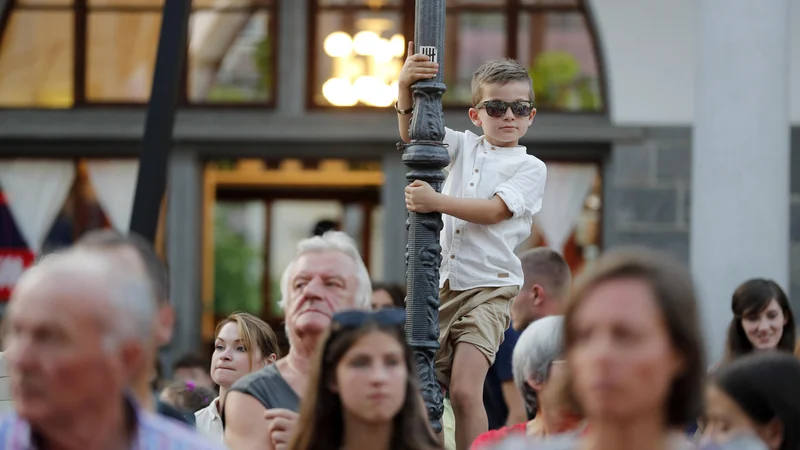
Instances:
[[[752,351],[794,351],[794,314],[783,289],[774,281],[754,278],[739,285],[731,310],[726,361]]]

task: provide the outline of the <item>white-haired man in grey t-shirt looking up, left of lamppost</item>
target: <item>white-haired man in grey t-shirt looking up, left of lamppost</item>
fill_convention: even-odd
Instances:
[[[306,391],[317,343],[339,310],[370,309],[372,285],[350,237],[338,231],[305,239],[281,278],[289,353],[234,384],[225,401],[231,450],[283,449]],[[265,421],[266,419],[266,421]]]

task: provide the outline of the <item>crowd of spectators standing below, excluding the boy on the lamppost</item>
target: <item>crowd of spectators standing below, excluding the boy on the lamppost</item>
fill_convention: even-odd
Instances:
[[[184,358],[160,392],[172,325],[156,261],[135,236],[100,232],[24,274],[4,325],[1,448],[458,448],[455,427],[431,431],[402,289],[373,288],[343,233],[302,241],[286,269],[288,354],[235,313],[210,367]],[[708,364],[691,277],[664,255],[611,251],[574,283],[552,250],[521,261],[511,372],[527,418],[469,448],[800,448],[794,315],[774,282],[735,290],[725,357]]]

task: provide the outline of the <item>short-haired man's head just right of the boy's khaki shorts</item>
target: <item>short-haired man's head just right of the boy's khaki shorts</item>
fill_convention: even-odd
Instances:
[[[519,259],[525,279],[511,304],[511,320],[521,331],[542,317],[562,314],[572,273],[564,258],[546,247],[528,250]]]

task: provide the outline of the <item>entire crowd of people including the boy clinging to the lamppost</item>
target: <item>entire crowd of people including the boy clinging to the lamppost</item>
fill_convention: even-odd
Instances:
[[[420,127],[438,133],[411,120],[412,85],[438,64],[413,43],[409,55],[395,104],[406,142]],[[573,281],[556,251],[518,255],[547,177],[519,145],[536,115],[532,81],[490,61],[472,90],[483,135],[446,129],[441,192],[422,180],[405,191],[412,214],[443,219],[440,433],[405,340],[403,288],[373,284],[346,234],[297,244],[280,280],[286,354],[266,322],[234,313],[210,364],[184,359],[164,382],[166,267],[137,236],[98,231],[13,290],[0,449],[800,450],[800,359],[781,287],[744,281],[725,357],[707,361],[692,278],[668,256],[611,250]]]

